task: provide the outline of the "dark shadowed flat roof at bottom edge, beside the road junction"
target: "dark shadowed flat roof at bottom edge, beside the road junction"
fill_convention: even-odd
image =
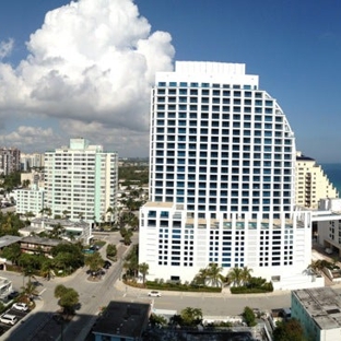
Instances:
[[[145,303],[111,301],[93,327],[93,332],[139,338],[148,325],[150,309],[150,304]]]

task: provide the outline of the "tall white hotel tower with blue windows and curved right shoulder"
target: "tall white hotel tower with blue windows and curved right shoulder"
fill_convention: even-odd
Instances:
[[[215,262],[307,286],[310,213],[294,211],[295,157],[283,110],[245,64],[181,61],[156,73],[140,211],[149,279],[191,281]]]

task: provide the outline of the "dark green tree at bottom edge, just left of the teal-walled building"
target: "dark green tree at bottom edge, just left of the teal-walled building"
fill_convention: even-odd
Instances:
[[[306,341],[301,324],[292,318],[287,321],[278,321],[273,330],[273,341]]]

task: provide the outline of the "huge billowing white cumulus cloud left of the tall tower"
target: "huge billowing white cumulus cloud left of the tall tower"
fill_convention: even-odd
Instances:
[[[126,149],[141,136],[146,151],[150,89],[156,71],[173,70],[175,50],[132,0],[70,2],[48,12],[26,46],[17,67],[0,62],[0,119],[51,117],[70,136],[83,127],[84,138],[125,131]]]

